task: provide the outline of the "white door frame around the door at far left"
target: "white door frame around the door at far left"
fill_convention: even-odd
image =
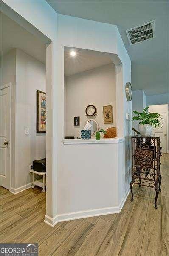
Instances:
[[[10,191],[11,189],[11,152],[12,152],[12,143],[11,143],[11,105],[12,105],[12,95],[11,95],[11,86],[12,83],[9,82],[8,84],[4,84],[3,86],[0,87],[0,90],[3,90],[5,88],[9,87],[9,188],[8,190]]]

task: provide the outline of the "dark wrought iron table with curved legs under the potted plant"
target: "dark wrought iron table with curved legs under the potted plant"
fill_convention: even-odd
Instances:
[[[157,198],[159,191],[161,191],[160,155],[159,137],[132,136],[131,201],[133,201],[133,184],[147,186],[155,189],[155,208],[158,208]]]

